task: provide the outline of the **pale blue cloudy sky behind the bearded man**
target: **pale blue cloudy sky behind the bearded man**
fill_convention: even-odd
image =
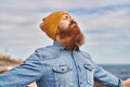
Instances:
[[[39,24],[63,10],[78,23],[80,48],[100,64],[130,64],[130,0],[0,0],[0,52],[27,59],[53,44]]]

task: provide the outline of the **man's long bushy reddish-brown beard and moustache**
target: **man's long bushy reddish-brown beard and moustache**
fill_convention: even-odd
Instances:
[[[66,49],[75,50],[84,42],[83,35],[75,21],[70,21],[67,28],[58,27],[58,29],[61,44]]]

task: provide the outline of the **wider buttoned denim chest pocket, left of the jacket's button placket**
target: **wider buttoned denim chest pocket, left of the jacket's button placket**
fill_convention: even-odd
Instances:
[[[72,70],[72,66],[66,64],[53,66],[55,87],[70,87],[68,83],[73,83]]]

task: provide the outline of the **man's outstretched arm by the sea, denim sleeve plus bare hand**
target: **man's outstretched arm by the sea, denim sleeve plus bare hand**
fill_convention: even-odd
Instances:
[[[109,72],[105,71],[101,66],[95,66],[95,80],[105,86],[114,86],[114,87],[130,87],[130,78],[126,80],[121,80],[110,74]]]

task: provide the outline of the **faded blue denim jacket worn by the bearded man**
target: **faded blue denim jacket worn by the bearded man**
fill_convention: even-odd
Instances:
[[[0,87],[25,87],[32,82],[38,87],[93,87],[93,82],[121,87],[121,80],[95,64],[87,52],[67,50],[57,41],[37,49],[23,64],[0,74]]]

